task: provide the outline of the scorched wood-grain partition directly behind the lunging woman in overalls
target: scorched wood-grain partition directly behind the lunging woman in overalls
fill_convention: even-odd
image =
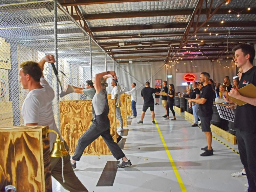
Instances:
[[[109,100],[109,120],[110,133],[116,141],[116,125],[115,125],[115,104],[114,100]],[[69,146],[69,153],[74,154],[79,138],[90,127],[92,119],[92,101],[61,101],[60,102],[60,119],[61,133],[63,139]],[[111,155],[110,150],[100,136],[88,147],[86,147],[84,155]]]

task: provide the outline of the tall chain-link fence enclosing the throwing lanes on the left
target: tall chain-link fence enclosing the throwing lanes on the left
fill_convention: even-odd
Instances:
[[[113,59],[91,41],[61,5],[57,7],[56,39],[54,15],[54,1],[0,1],[0,125],[24,124],[21,107],[28,90],[19,83],[19,65],[27,60],[39,61],[46,54],[56,55],[55,40],[56,65],[63,87],[81,87],[91,79],[91,73],[94,77],[106,68],[114,68]],[[79,100],[81,95],[72,93],[59,98],[51,65],[45,64],[43,74],[55,91],[52,109],[59,127],[59,100]]]

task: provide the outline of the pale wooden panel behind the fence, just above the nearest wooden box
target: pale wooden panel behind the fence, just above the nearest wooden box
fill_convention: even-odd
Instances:
[[[0,125],[13,125],[13,102],[0,102]]]

